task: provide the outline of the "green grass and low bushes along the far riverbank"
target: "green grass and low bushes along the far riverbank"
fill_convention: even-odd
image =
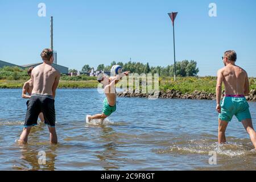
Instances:
[[[22,88],[25,81],[29,80],[27,71],[18,67],[0,68],[0,88]],[[177,77],[177,82],[173,77],[160,76],[159,89],[162,92],[177,90],[183,94],[193,93],[195,90],[215,93],[216,77]],[[256,78],[250,78],[250,90],[256,90]],[[96,77],[86,75],[67,76],[61,75],[59,88],[97,88]]]

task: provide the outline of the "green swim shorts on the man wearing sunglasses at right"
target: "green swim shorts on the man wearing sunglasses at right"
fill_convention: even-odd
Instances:
[[[251,119],[249,104],[245,97],[224,97],[218,118],[222,121],[230,122],[233,115],[236,115],[240,122],[245,119]]]

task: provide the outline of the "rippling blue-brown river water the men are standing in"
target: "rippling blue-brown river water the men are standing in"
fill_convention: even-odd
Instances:
[[[118,98],[104,123],[85,122],[101,112],[96,89],[59,89],[55,101],[59,144],[48,142],[43,124],[33,127],[27,145],[22,132],[26,100],[21,89],[0,89],[0,170],[255,170],[256,152],[236,118],[217,144],[215,101]],[[250,102],[256,125],[256,103]],[[46,164],[39,164],[46,154]],[[210,165],[210,151],[217,164]]]

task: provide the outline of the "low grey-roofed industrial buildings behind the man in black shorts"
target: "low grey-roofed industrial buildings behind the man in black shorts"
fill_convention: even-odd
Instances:
[[[27,65],[16,65],[16,64],[7,63],[5,61],[0,60],[0,68],[2,68],[2,67],[19,67],[19,68],[22,68],[22,69],[26,69],[26,68],[30,68],[30,67],[36,67],[40,64],[42,64],[42,63],[27,64]],[[55,64],[55,63],[52,64],[52,67],[57,69],[57,71],[59,71],[60,73],[68,75],[68,68],[67,67],[63,67],[63,66],[61,66],[59,64]]]

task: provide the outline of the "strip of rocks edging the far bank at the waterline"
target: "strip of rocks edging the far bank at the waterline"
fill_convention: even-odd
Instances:
[[[225,92],[223,91],[222,94]],[[143,97],[143,98],[180,98],[180,99],[194,99],[194,100],[216,100],[215,93],[207,93],[204,91],[195,90],[193,93],[181,93],[178,90],[167,90],[167,92],[154,93],[133,93],[119,92],[118,97]],[[247,101],[256,101],[256,90],[251,90],[249,96],[246,96]]]

